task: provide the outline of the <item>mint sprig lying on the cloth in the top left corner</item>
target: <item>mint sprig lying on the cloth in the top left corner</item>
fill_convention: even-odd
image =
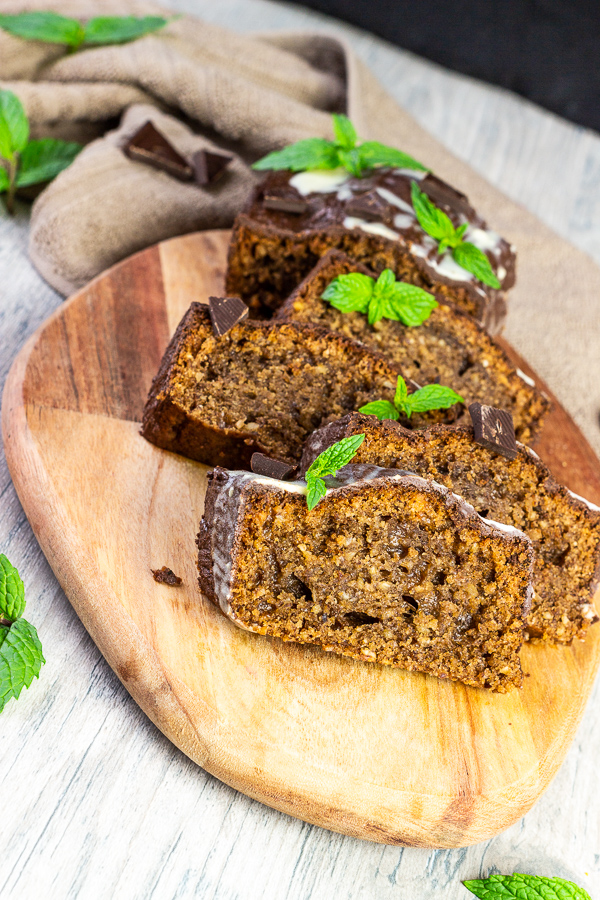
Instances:
[[[168,21],[162,16],[96,16],[83,23],[49,11],[0,14],[4,31],[25,40],[66,44],[71,51],[85,45],[125,44],[164,28]]]

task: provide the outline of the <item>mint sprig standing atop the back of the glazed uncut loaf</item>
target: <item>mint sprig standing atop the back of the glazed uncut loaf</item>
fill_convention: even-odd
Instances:
[[[365,169],[377,166],[394,166],[399,169],[413,169],[427,172],[426,166],[417,162],[412,156],[387,147],[378,141],[362,141],[359,143],[356,129],[350,119],[340,113],[333,113],[333,141],[325,138],[306,138],[275,150],[259,159],[253,169],[288,169],[291,172],[304,172],[308,169],[339,169],[343,167],[351,175],[358,178]]]

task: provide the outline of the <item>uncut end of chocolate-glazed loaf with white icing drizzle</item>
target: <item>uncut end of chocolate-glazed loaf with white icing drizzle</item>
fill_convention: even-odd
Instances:
[[[412,182],[455,228],[466,227],[464,240],[487,256],[499,288],[458,265],[450,250],[438,253],[416,218]],[[435,175],[386,166],[362,177],[342,169],[270,172],[236,219],[227,291],[242,297],[251,315],[268,316],[332,248],[441,294],[489,331],[501,327],[505,292],[515,282],[514,248]]]

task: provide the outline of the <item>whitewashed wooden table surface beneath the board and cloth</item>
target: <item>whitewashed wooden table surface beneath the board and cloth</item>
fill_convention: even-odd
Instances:
[[[345,33],[426,128],[600,262],[599,136],[300,8],[170,5],[239,31]],[[24,213],[0,212],[2,384],[27,336],[61,303],[27,259],[27,228]],[[600,450],[587,412],[586,434]],[[494,840],[427,851],[323,831],[236,793],[169,744],[75,616],[3,455],[0,498],[0,552],[23,575],[26,615],[47,659],[40,681],[0,718],[2,900],[468,900],[461,879],[493,871],[560,875],[600,900],[600,682],[546,794]]]

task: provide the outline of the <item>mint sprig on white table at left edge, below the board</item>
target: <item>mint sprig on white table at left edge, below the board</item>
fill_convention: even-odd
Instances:
[[[19,573],[0,553],[0,713],[23,688],[38,678],[46,662],[37,631],[22,618],[25,587]]]

